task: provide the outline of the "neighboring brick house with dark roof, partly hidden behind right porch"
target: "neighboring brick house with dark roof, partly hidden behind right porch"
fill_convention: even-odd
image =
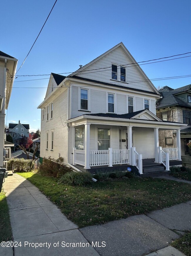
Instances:
[[[168,86],[159,90],[162,99],[156,105],[156,115],[164,121],[186,123],[180,129],[181,155],[191,154],[187,143],[191,141],[191,84],[172,89]],[[174,130],[159,131],[159,145],[165,148],[176,148]]]

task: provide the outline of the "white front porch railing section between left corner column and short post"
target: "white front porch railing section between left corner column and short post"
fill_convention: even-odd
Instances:
[[[109,150],[91,150],[90,166],[109,165]]]

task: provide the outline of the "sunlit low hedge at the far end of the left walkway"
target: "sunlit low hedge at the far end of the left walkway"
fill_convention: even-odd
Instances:
[[[35,168],[35,161],[24,158],[11,158],[8,161],[8,166],[9,170],[14,170],[15,172],[30,172]]]

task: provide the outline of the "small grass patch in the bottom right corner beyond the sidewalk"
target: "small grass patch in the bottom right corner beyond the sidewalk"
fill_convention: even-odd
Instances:
[[[191,256],[191,232],[189,231],[182,237],[176,239],[171,245],[185,255]]]

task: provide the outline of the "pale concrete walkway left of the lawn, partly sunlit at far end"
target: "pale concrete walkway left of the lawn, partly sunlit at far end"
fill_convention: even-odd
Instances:
[[[88,247],[89,243],[78,226],[69,221],[31,182],[14,174],[6,178],[3,188],[9,206],[13,239],[14,242],[21,242],[21,247],[14,248],[14,256],[99,255],[93,247]],[[62,247],[62,242],[81,242],[86,247]],[[43,247],[34,248],[29,243],[42,243]],[[49,248],[47,243],[50,244]],[[12,256],[13,249],[0,247],[0,255]]]

